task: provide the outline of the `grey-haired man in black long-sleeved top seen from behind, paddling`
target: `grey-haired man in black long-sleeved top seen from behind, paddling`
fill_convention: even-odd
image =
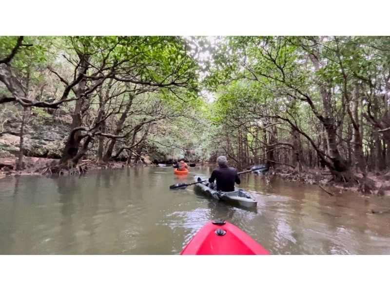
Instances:
[[[219,156],[216,159],[219,168],[215,169],[211,173],[209,178],[210,183],[214,183],[216,180],[216,190],[223,192],[234,191],[234,182],[241,183],[238,177],[237,170],[234,167],[229,167],[225,156]]]

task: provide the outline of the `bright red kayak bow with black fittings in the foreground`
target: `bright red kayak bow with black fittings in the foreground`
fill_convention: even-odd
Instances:
[[[270,255],[251,236],[224,220],[203,226],[180,255]]]

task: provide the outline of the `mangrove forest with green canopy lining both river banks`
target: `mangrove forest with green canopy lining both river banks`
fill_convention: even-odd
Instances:
[[[0,37],[0,154],[127,165],[270,162],[388,191],[388,36]],[[41,129],[39,129],[41,128]]]

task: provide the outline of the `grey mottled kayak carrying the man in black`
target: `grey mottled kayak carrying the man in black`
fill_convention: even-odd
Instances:
[[[194,182],[207,180],[202,176],[194,176]],[[254,199],[253,195],[245,190],[234,187],[233,192],[222,192],[211,189],[207,186],[208,182],[202,182],[195,184],[195,190],[198,190],[216,200],[222,200],[230,204],[253,208],[257,206],[257,201]]]

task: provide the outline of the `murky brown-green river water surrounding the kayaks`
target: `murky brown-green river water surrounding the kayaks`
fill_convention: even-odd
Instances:
[[[209,220],[240,227],[272,254],[390,254],[389,198],[241,175],[257,209],[194,192],[170,190],[210,167],[179,178],[169,167],[99,170],[81,177],[0,180],[0,255],[177,255]],[[184,179],[184,180],[183,180]]]

